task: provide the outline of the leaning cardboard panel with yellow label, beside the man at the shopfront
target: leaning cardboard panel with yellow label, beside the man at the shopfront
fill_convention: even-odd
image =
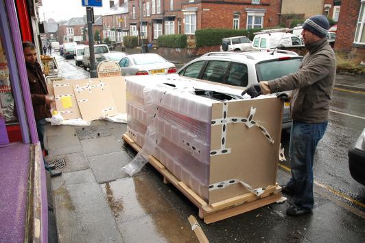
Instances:
[[[87,82],[87,80],[62,80],[52,83],[56,109],[64,119],[77,119],[82,117],[75,93],[73,93],[73,84],[76,82]],[[49,87],[49,84],[47,84],[47,87]],[[51,94],[51,90],[48,90],[48,92]]]

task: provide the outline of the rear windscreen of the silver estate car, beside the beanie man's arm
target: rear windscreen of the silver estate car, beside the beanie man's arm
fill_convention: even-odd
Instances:
[[[274,80],[287,74],[294,73],[301,65],[301,58],[288,60],[272,60],[270,62],[257,63],[256,70],[259,81]]]

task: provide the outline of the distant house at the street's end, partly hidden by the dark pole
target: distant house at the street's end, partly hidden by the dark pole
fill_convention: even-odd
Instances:
[[[84,31],[87,30],[86,24],[86,16],[83,17],[75,17],[71,18],[62,25],[58,27],[58,42],[60,44],[64,42],[76,42],[78,44],[84,43],[85,40],[83,38]],[[94,16],[94,24],[93,24],[93,36],[95,31],[99,30],[100,37],[102,38],[102,16],[95,15]],[[89,36],[86,34],[86,42],[88,41]]]

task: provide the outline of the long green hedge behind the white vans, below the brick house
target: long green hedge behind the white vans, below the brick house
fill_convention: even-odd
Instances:
[[[222,38],[233,36],[247,36],[250,40],[255,36],[255,32],[262,29],[251,30],[232,30],[232,29],[200,29],[195,32],[196,47],[205,47],[207,45],[220,45]]]

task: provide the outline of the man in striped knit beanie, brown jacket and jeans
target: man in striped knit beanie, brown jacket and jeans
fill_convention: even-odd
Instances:
[[[244,91],[251,97],[292,91],[276,95],[290,100],[293,119],[289,148],[292,178],[283,187],[283,193],[294,196],[294,205],[286,211],[289,216],[311,213],[314,205],[314,152],[327,128],[336,68],[335,54],[326,38],[328,29],[325,16],[311,16],[303,24],[308,53],[298,71],[275,80],[260,80]]]

